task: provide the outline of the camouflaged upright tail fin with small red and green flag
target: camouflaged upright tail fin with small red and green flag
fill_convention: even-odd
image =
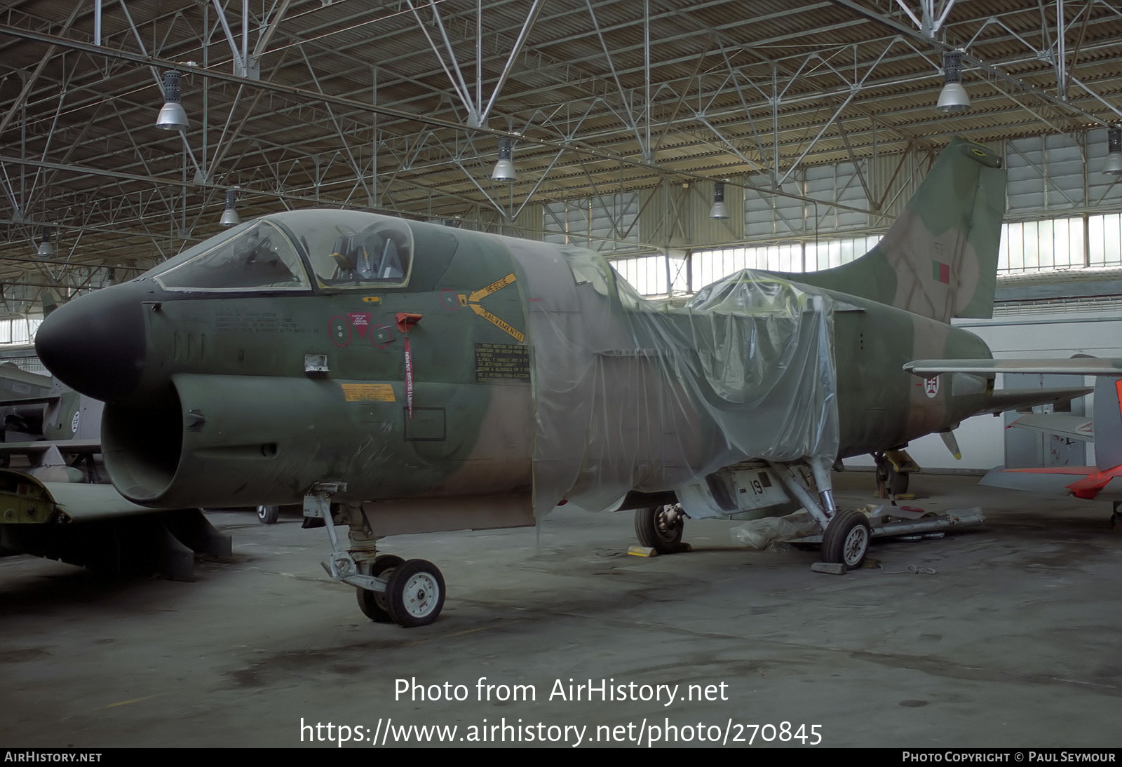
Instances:
[[[991,316],[1005,214],[1002,166],[982,145],[951,140],[875,248],[840,267],[789,277],[942,322]]]

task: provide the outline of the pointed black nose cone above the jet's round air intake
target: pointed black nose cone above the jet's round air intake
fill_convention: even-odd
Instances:
[[[52,312],[35,336],[35,351],[47,370],[95,399],[132,395],[145,360],[141,295],[135,284],[117,285]]]

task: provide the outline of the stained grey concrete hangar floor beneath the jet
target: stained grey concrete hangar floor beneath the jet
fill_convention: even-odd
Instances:
[[[532,528],[388,538],[385,551],[447,579],[443,614],[420,629],[365,619],[353,589],[320,567],[324,532],[296,517],[266,527],[214,514],[234,556],[201,563],[192,583],[10,557],[0,746],[324,746],[312,738],[340,724],[370,745],[387,720],[457,726],[457,745],[505,723],[523,745],[588,746],[645,722],[690,745],[727,733],[761,746],[780,742],[766,726],[789,722],[795,736],[806,726],[795,745],[1122,746],[1122,529],[1109,528],[1109,505],[976,479],[918,475],[912,505],[982,506],[984,527],[877,542],[882,569],[843,576],[812,573],[813,553],[745,549],[718,521],[689,524],[691,553],[627,556],[629,514],[551,516],[540,548]],[[871,480],[838,475],[843,502],[867,502]],[[536,700],[481,702],[480,677],[533,685]],[[550,700],[570,678],[679,685],[678,697]],[[460,684],[467,700],[411,700],[398,680],[441,696]],[[716,700],[683,700],[688,685],[702,697],[714,685]]]

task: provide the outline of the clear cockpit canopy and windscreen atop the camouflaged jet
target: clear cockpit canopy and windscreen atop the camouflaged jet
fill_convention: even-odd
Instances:
[[[148,274],[168,290],[307,290],[405,285],[413,231],[361,211],[263,216],[188,248]]]

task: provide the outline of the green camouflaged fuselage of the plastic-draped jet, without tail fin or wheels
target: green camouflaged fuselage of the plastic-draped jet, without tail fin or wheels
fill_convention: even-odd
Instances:
[[[220,246],[201,246],[63,306],[40,329],[40,354],[56,375],[107,400],[105,465],[130,500],[291,503],[320,482],[343,482],[341,497],[364,501],[533,492],[539,506],[578,490],[588,498],[672,490],[715,461],[764,456],[745,444],[782,453],[788,445],[775,443],[787,437],[767,424],[798,416],[812,426],[819,414],[806,410],[835,407],[813,394],[787,396],[784,387],[806,381],[779,373],[775,391],[758,400],[763,409],[718,390],[711,359],[729,353],[727,333],[771,327],[752,306],[717,335],[699,335],[696,309],[640,302],[595,256],[412,223],[412,240],[392,248],[408,261],[407,278],[344,278],[353,260],[316,261],[316,243],[331,232],[305,235],[296,225],[305,219],[286,215],[294,214],[275,216],[272,241],[257,235],[266,249],[222,246],[239,259],[233,286],[221,271],[232,261],[215,266],[226,258]],[[277,247],[282,237],[288,251]],[[358,248],[364,258],[377,250],[369,238]],[[355,247],[337,242],[331,256],[344,262],[347,252]],[[307,276],[278,276],[286,269]],[[818,342],[828,354],[794,335],[758,353],[793,351],[822,370],[833,354],[837,433],[791,446],[791,460],[895,447],[978,410],[984,385],[959,394],[902,370],[916,358],[988,357],[976,336],[807,290],[834,307],[833,336]],[[802,307],[789,318],[800,316],[817,315]],[[716,311],[702,318],[725,323]],[[714,348],[690,348],[703,345],[698,339]],[[734,350],[733,361],[771,376],[770,358],[754,359],[755,349]]]

